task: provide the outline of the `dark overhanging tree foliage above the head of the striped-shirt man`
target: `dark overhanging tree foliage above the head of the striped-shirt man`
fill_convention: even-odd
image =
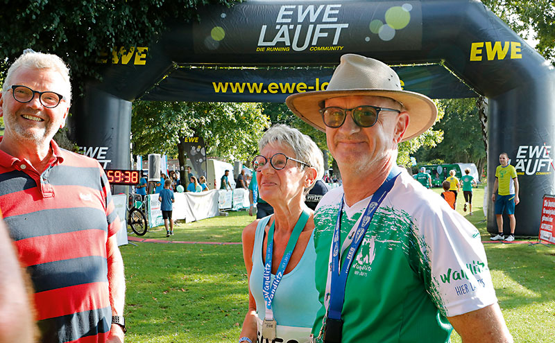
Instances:
[[[4,0],[0,11],[0,74],[24,49],[56,53],[74,82],[99,78],[96,59],[114,46],[145,45],[169,22],[196,19],[199,6],[241,0]],[[6,62],[8,61],[8,62]]]

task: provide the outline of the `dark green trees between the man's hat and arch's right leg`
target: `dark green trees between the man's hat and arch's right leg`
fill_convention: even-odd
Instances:
[[[416,153],[418,161],[443,159],[449,163],[474,163],[478,170],[486,164],[486,147],[479,125],[476,99],[449,99],[438,102],[445,115],[434,125],[445,132],[443,141],[436,148],[420,148]]]

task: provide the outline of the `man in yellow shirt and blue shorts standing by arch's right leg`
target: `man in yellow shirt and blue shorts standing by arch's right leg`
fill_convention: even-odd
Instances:
[[[512,242],[515,240],[515,205],[520,202],[520,199],[518,199],[518,178],[515,167],[509,164],[509,155],[506,152],[499,155],[499,163],[501,166],[497,166],[497,169],[495,169],[495,183],[491,195],[491,201],[495,203],[495,219],[497,220],[499,234],[490,239]],[[495,196],[498,188],[498,194]],[[503,212],[509,216],[509,227],[511,228],[511,234],[507,238],[503,234]]]

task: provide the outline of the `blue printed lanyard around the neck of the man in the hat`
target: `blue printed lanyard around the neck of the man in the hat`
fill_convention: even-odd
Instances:
[[[366,206],[366,211],[364,211],[363,217],[359,222],[359,227],[355,231],[355,238],[353,238],[351,245],[349,247],[347,256],[345,256],[345,261],[341,267],[341,273],[339,272],[339,245],[341,234],[341,214],[343,212],[343,197],[341,198],[341,205],[339,206],[339,213],[337,213],[337,222],[335,224],[334,236],[333,236],[333,249],[332,249],[332,281],[330,284],[330,307],[328,308],[327,317],[331,319],[341,319],[341,310],[343,310],[343,301],[345,301],[345,285],[347,283],[347,276],[349,274],[350,267],[352,265],[352,259],[355,256],[355,252],[359,249],[360,244],[366,235],[366,230],[370,226],[370,222],[374,217],[374,213],[382,201],[386,197],[387,193],[393,188],[395,184],[395,179],[397,179],[400,174],[398,168],[395,166],[391,169],[391,172],[387,176],[386,180],[379,186],[377,191],[375,191],[372,199],[368,206]]]

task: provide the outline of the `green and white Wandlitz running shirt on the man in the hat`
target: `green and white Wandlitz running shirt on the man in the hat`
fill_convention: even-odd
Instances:
[[[329,191],[314,216],[322,304],[315,336],[325,315],[330,245],[342,195],[343,187]],[[341,242],[369,200],[344,206]],[[478,230],[406,172],[376,211],[355,256],[341,313],[343,342],[449,342],[452,326],[446,317],[497,302]]]

